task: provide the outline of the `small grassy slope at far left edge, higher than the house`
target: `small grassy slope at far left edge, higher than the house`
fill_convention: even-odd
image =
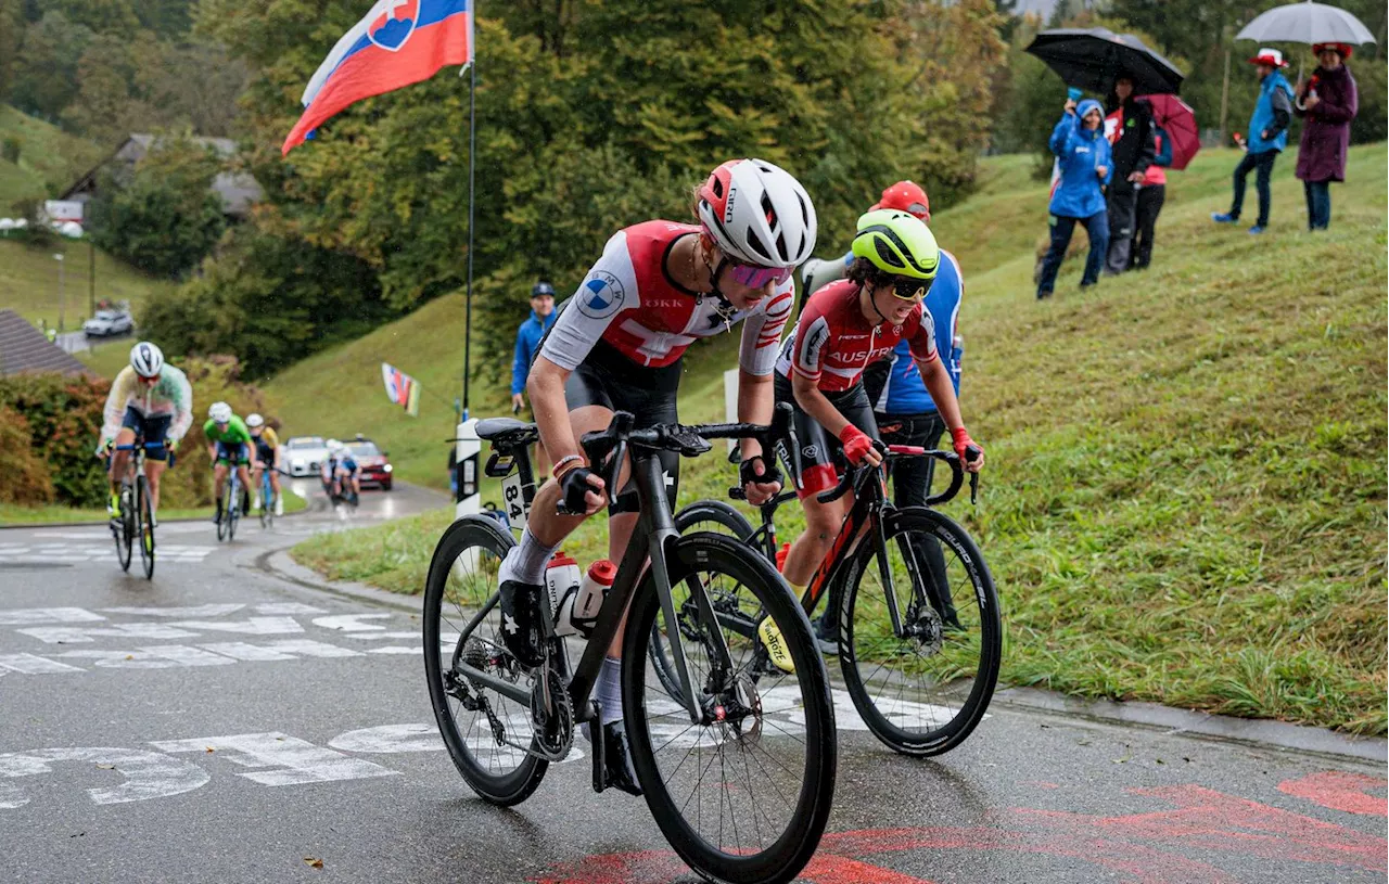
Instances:
[[[61,192],[96,165],[104,150],[115,148],[67,135],[0,104],[0,142],[11,137],[19,139],[19,162],[0,160],[0,215],[8,215],[15,200]]]

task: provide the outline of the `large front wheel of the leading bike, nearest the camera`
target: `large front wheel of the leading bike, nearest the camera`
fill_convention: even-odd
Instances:
[[[743,702],[742,709],[754,709],[756,712],[745,715],[739,711],[736,715],[742,715],[742,717],[729,716],[714,720],[710,727],[704,727],[690,737],[690,731],[697,730],[697,726],[690,724],[683,708],[675,708],[674,712],[667,713],[660,712],[663,708],[671,709],[676,704],[665,697],[664,688],[658,684],[653,686],[650,691],[647,690],[647,666],[624,666],[624,717],[631,741],[632,763],[644,791],[646,804],[667,841],[696,873],[711,880],[738,881],[739,884],[790,881],[810,862],[825,831],[825,823],[833,804],[839,758],[829,680],[825,674],[824,661],[811,638],[810,620],[776,569],[740,541],[700,532],[678,538],[668,550],[667,565],[672,583],[689,579],[692,575],[697,575],[700,579],[703,575],[710,575],[711,577],[729,577],[750,590],[781,627],[796,672],[788,676],[776,669],[763,669],[765,651],[756,640],[731,641],[729,651],[735,658],[739,692],[724,690],[707,699],[717,704],[714,708],[720,711],[718,715],[724,715],[725,709],[736,709],[732,705],[735,699],[743,702],[743,698],[747,697],[750,705]],[[632,609],[628,613],[624,659],[643,662],[647,659],[651,624],[660,606],[654,577],[647,573],[638,587]],[[713,676],[708,679],[697,676],[693,672],[696,669],[694,661],[690,662],[690,668],[692,681],[701,686],[703,690],[707,690],[704,686],[710,681],[717,680]],[[776,679],[781,681],[774,683]],[[792,679],[792,683],[783,684],[786,679]],[[763,704],[764,698],[775,698],[778,704],[785,704],[785,709],[768,712]],[[783,711],[788,713],[795,711],[804,716],[803,724],[799,726],[803,727],[803,740],[795,733],[796,724],[772,717]],[[669,723],[657,724],[657,733],[653,733],[653,722],[647,717],[653,712],[656,720],[669,719]],[[772,729],[778,733],[767,736]],[[669,736],[668,730],[674,730],[675,736]],[[733,736],[731,737],[731,734]],[[681,762],[690,759],[696,752],[700,752],[703,758],[701,744],[708,737],[711,737],[708,766],[704,770],[699,770],[703,763],[692,765],[689,769],[683,767]],[[694,747],[685,747],[683,759],[671,759],[669,763],[663,765],[663,758],[658,755],[664,756],[671,747],[675,747],[674,752],[678,755],[682,747],[676,744],[688,744],[692,738]],[[717,747],[720,760],[725,762],[718,766],[721,774],[728,770],[728,758],[725,758],[728,749],[745,755],[743,770],[742,774],[732,773],[733,783],[711,784],[710,788],[704,788],[707,779],[718,779],[717,774],[710,776],[714,747]],[[771,749],[803,752],[804,759],[800,762],[790,759],[789,763],[782,763],[771,755]],[[801,777],[799,787],[789,787],[783,791],[772,781],[771,791],[753,788],[753,772],[746,756],[754,751],[760,751],[774,762],[763,765],[760,759],[753,759],[758,767],[760,785],[765,787],[768,781],[782,776],[782,773],[797,776],[799,770]],[[736,766],[736,755],[732,763]],[[669,770],[668,776],[663,772],[663,766]],[[682,770],[686,777],[699,776],[694,788],[701,790],[701,794],[693,802],[694,808],[690,808],[694,792],[688,798],[672,792],[671,785]],[[733,820],[733,838],[742,841],[745,834],[753,834],[760,844],[733,844],[732,849],[726,849],[729,845],[725,840],[726,828],[722,824],[725,805],[732,812],[735,802],[756,801],[760,794],[772,798],[772,792],[785,805],[785,813],[772,809],[778,817],[786,820],[781,831],[772,831],[764,840],[761,831],[764,828],[775,830],[779,823],[772,820],[772,813],[767,809],[754,809],[751,819],[745,820],[742,828],[739,828],[738,820]],[[793,801],[786,798],[788,792],[795,794]],[[718,809],[717,844],[710,842],[701,831],[706,824],[714,826],[713,819],[706,819],[713,816],[711,813],[706,815],[706,805]],[[688,813],[694,817],[693,823]],[[767,841],[770,845],[765,845]]]

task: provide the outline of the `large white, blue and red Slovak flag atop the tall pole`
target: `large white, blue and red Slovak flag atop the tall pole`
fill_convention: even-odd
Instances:
[[[429,79],[472,61],[472,0],[376,0],[304,87],[304,114],[281,154],[354,101]]]

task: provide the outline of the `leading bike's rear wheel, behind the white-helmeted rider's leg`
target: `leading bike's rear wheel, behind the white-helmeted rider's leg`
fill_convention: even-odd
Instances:
[[[464,516],[439,538],[425,581],[425,677],[444,747],[472,791],[521,804],[549,763],[499,740],[531,744],[531,709],[460,673],[467,662],[513,684],[532,679],[501,641],[497,568],[515,545],[488,516]]]

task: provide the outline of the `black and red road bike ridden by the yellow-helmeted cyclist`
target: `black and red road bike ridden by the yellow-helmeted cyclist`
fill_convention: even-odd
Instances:
[[[789,458],[786,452],[797,448],[783,444],[781,451]],[[974,731],[997,686],[1003,656],[999,595],[964,527],[929,507],[897,508],[888,497],[886,470],[893,461],[929,457],[950,466],[951,482],[926,504],[951,500],[964,484],[958,455],[914,445],[888,445],[882,452],[882,466],[849,469],[835,488],[818,495],[829,502],[853,488],[854,505],[807,584],[801,606],[811,613],[828,595],[820,636],[838,651],[845,687],[874,736],[903,755],[940,755]],[[971,498],[976,483],[974,473]],[[729,497],[743,500],[742,488],[731,488]],[[764,504],[756,529],[724,501],[696,501],[676,513],[675,525],[681,532],[732,534],[775,561],[774,515],[795,498],[795,491],[785,491]],[[682,600],[681,616],[688,613]],[[756,613],[729,609],[726,626],[753,637]],[[657,638],[653,665],[667,688],[678,692],[667,669],[669,655]]]

